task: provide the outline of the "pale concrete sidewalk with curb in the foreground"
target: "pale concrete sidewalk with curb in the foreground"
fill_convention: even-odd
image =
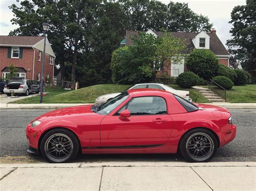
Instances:
[[[1,164],[0,188],[19,190],[255,190],[255,162]]]

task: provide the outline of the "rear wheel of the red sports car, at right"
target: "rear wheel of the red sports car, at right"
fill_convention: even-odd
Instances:
[[[190,162],[208,162],[216,151],[217,139],[210,130],[198,128],[185,133],[180,139],[179,151]]]

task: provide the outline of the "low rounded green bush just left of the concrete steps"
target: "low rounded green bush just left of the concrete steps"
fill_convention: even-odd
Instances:
[[[197,74],[194,74],[193,72],[184,72],[177,77],[176,83],[181,88],[191,88],[192,86],[196,86],[199,80],[200,78]]]

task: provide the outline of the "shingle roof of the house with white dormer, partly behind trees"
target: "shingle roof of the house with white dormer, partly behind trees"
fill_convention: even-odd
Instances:
[[[146,31],[126,31],[126,45],[132,45],[132,36],[138,36],[138,33],[145,33]],[[154,31],[159,37],[163,37],[163,32]],[[198,33],[194,32],[170,32],[174,37],[183,39],[187,43],[187,49],[185,53],[189,54],[194,47],[192,39],[197,36]],[[207,33],[210,36],[210,50],[216,55],[230,55],[225,46],[221,43],[216,33]]]

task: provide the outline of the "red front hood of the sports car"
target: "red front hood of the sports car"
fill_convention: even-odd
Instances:
[[[47,112],[46,114],[43,114],[42,116],[39,116],[37,119],[99,115],[91,111],[92,105],[93,104],[79,105],[75,107],[53,110],[53,111]]]

